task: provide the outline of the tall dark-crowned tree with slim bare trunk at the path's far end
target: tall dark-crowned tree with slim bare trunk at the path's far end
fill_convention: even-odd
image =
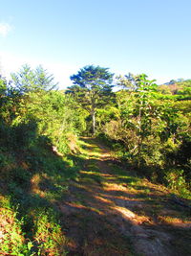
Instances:
[[[74,85],[69,87],[66,93],[73,93],[75,100],[91,115],[93,135],[96,131],[96,109],[114,99],[113,76],[108,68],[94,65],[85,66],[76,75],[71,76]]]

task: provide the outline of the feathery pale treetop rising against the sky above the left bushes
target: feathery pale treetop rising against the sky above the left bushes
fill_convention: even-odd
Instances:
[[[41,65],[32,70],[28,64],[25,64],[19,72],[11,74],[11,79],[20,94],[36,90],[52,90],[57,85],[53,82],[53,75]]]

